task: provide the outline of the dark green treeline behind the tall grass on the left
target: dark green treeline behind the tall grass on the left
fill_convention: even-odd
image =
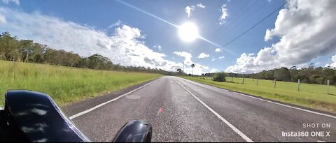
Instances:
[[[45,63],[57,66],[77,68],[91,68],[97,70],[116,70],[126,72],[159,73],[162,75],[176,75],[158,68],[121,66],[99,54],[90,57],[80,57],[79,54],[55,50],[47,45],[34,43],[33,40],[18,40],[16,36],[4,32],[0,35],[0,60],[26,63]]]

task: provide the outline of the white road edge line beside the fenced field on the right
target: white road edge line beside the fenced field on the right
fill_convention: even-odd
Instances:
[[[185,79],[182,79],[182,80],[185,80]],[[185,80],[186,82],[189,82],[188,80]],[[192,83],[192,82],[190,82]],[[198,83],[198,82],[195,82],[195,83]],[[199,83],[200,84],[200,83]],[[211,85],[207,85],[207,84],[204,84],[206,86],[211,86]],[[216,87],[216,86],[211,86],[211,87]],[[216,87],[218,88],[218,87]],[[218,88],[218,89],[221,89],[221,88]],[[225,91],[228,91],[227,89],[223,89]],[[230,91],[228,91],[230,92]],[[321,115],[321,116],[328,116],[330,118],[333,118],[333,119],[336,119],[336,116],[332,116],[330,114],[323,114],[323,113],[319,113],[319,112],[314,112],[314,111],[311,111],[311,110],[304,110],[300,107],[293,107],[293,106],[290,106],[290,105],[285,105],[285,104],[281,104],[281,103],[276,103],[276,102],[273,102],[273,101],[270,101],[270,100],[265,100],[265,99],[262,99],[262,98],[258,98],[258,97],[254,97],[254,96],[248,96],[246,94],[243,94],[243,93],[238,93],[238,92],[233,92],[233,93],[236,93],[236,94],[239,94],[241,96],[246,96],[248,98],[254,98],[254,99],[257,99],[257,100],[262,100],[264,102],[267,102],[267,103],[273,103],[273,104],[276,104],[276,105],[281,105],[281,106],[284,106],[284,107],[289,107],[289,108],[292,108],[292,109],[295,109],[295,110],[301,110],[301,111],[304,111],[304,112],[309,112],[309,113],[312,113],[312,114],[318,114],[318,115]]]

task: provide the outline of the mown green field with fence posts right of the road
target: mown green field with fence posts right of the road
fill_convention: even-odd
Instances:
[[[212,86],[218,86],[232,91],[248,93],[253,96],[260,96],[272,100],[279,100],[284,103],[300,105],[316,110],[336,113],[336,87],[319,84],[300,84],[300,91],[297,91],[297,83],[293,82],[274,82],[271,80],[258,80],[258,86],[254,79],[227,77],[227,82],[214,82],[208,77],[206,80],[196,77],[184,77],[195,82],[202,82]],[[329,93],[328,93],[329,92]]]

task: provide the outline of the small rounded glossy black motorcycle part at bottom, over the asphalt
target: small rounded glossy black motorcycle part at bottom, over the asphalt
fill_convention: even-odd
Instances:
[[[133,120],[120,129],[112,142],[151,142],[152,125],[148,121]]]

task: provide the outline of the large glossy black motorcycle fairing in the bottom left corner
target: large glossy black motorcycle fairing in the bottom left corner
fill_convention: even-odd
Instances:
[[[12,141],[90,142],[45,93],[7,91],[5,114]]]

